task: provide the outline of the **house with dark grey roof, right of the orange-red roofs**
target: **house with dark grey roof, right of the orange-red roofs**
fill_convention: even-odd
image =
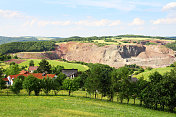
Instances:
[[[78,69],[63,69],[62,73],[67,77],[74,78],[78,76]]]

